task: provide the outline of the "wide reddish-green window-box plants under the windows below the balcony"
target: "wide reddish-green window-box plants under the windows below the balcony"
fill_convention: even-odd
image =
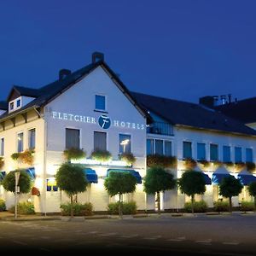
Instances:
[[[160,166],[163,168],[172,168],[177,165],[176,156],[166,156],[160,154],[148,154],[147,155],[147,166]]]

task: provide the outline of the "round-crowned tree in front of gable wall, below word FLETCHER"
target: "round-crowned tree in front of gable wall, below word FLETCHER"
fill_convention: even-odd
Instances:
[[[71,218],[73,218],[73,195],[84,192],[88,181],[81,166],[62,164],[55,175],[57,186],[70,197]]]

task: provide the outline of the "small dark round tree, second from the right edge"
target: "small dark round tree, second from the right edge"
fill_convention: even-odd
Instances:
[[[236,177],[229,175],[224,177],[219,186],[219,195],[229,198],[230,212],[232,212],[232,196],[239,195],[241,193],[242,185]]]

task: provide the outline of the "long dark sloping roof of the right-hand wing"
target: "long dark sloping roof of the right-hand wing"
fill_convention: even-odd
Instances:
[[[139,104],[173,125],[184,125],[213,131],[256,135],[256,131],[223,113],[189,102],[181,102],[137,92],[131,93]]]

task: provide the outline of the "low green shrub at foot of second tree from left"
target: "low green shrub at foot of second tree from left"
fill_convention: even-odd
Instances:
[[[61,215],[70,216],[71,203],[61,204]],[[92,215],[92,204],[90,202],[73,204],[73,216],[89,216]]]

